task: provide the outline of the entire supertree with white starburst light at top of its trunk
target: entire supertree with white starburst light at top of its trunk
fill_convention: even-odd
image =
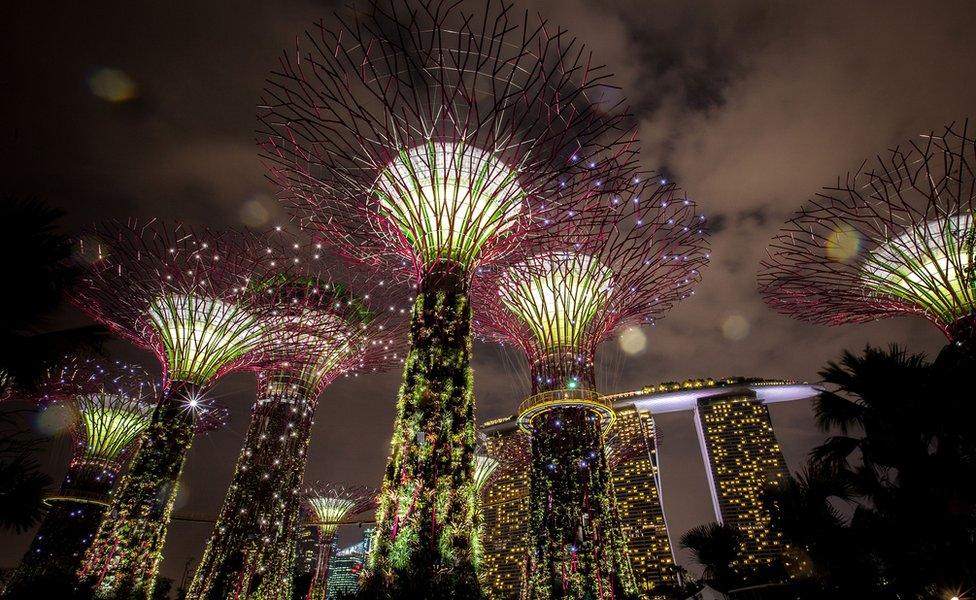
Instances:
[[[214,414],[208,388],[259,360],[270,305],[251,289],[266,259],[242,234],[112,222],[96,228],[75,304],[163,368],[162,398],[79,571],[96,597],[152,593],[196,421]]]

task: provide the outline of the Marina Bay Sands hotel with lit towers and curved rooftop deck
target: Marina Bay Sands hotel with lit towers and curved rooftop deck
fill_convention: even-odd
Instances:
[[[746,562],[761,564],[780,551],[770,528],[763,491],[788,474],[767,404],[811,398],[814,386],[791,381],[732,377],[664,383],[606,397],[616,412],[616,444],[628,452],[613,468],[617,507],[627,535],[631,564],[645,593],[674,578],[674,555],[662,510],[661,465],[654,416],[694,412],[715,520],[745,534]],[[522,435],[515,416],[485,423],[489,449],[507,436]],[[497,480],[482,498],[484,581],[491,598],[518,598],[526,557],[528,469]]]

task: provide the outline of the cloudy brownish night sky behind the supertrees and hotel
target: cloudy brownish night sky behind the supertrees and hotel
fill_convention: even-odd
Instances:
[[[331,5],[10,4],[0,10],[0,191],[63,208],[69,231],[107,217],[259,229],[287,219],[258,162],[255,105],[281,51],[312,21],[328,21]],[[941,333],[919,320],[794,322],[765,307],[755,274],[766,242],[818,188],[896,143],[976,116],[976,4],[520,0],[517,7],[568,27],[617,74],[641,119],[643,166],[665,169],[713,231],[703,283],[645,329],[646,349],[628,355],[615,341],[605,345],[604,391],[726,375],[815,381],[841,349],[865,343],[938,350]],[[68,310],[52,326],[78,322]],[[111,350],[155,368],[121,343]],[[513,364],[514,353],[476,348],[479,422],[513,412],[525,393]],[[399,377],[342,380],[326,390],[307,481],[379,484]],[[179,510],[209,515],[237,459],[253,378],[227,377],[213,393],[231,405],[233,421],[197,439],[178,500]],[[823,434],[806,402],[771,412],[797,469]],[[710,501],[690,413],[665,415],[658,428],[676,542],[712,519]],[[63,441],[53,447],[44,460],[58,480],[68,453]],[[175,523],[163,575],[178,583],[208,534],[208,525]],[[356,533],[343,535],[353,541]],[[3,538],[0,566],[13,566],[29,541]]]

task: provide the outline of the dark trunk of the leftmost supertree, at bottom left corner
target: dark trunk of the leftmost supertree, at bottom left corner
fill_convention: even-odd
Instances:
[[[68,597],[88,544],[105,514],[116,466],[73,461],[4,598]]]

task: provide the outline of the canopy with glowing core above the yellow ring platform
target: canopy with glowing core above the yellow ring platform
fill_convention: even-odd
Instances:
[[[473,288],[475,331],[525,353],[533,392],[592,372],[602,342],[655,324],[694,294],[708,262],[705,217],[673,183],[618,172],[605,188],[602,217]]]

